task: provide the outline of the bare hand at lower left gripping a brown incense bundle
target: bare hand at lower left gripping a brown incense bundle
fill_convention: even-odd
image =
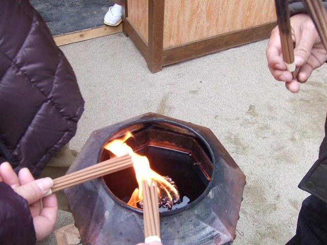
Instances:
[[[20,169],[17,177],[11,165],[4,162],[0,165],[0,181],[10,185],[16,193],[27,200],[33,217],[36,239],[40,240],[49,235],[55,226],[58,209],[55,194],[44,197],[53,185],[52,179],[34,180],[28,168]]]

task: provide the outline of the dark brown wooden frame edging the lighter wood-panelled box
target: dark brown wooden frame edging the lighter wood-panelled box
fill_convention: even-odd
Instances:
[[[165,0],[145,1],[148,1],[148,35],[141,33],[139,28],[137,28],[129,18],[128,0],[123,0],[122,2],[123,33],[130,37],[146,59],[148,67],[153,73],[160,71],[162,66],[165,65],[268,38],[272,29],[276,26],[276,21],[273,20],[237,31],[214,35],[212,37],[175,46],[164,47]],[[231,18],[232,17],[235,16],[231,16]]]

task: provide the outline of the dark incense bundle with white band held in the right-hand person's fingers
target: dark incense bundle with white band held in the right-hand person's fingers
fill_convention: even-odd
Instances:
[[[275,6],[279,35],[281,36],[283,59],[286,63],[287,70],[292,72],[293,78],[296,78],[294,47],[288,2],[287,0],[275,0]]]

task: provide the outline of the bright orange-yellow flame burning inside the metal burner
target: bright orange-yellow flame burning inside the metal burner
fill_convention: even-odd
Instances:
[[[157,174],[151,169],[149,160],[146,156],[141,156],[134,153],[130,146],[125,143],[125,141],[130,137],[132,137],[132,134],[130,132],[127,132],[122,139],[115,139],[105,145],[106,150],[112,152],[118,157],[127,153],[132,157],[138,188],[134,190],[128,202],[128,205],[132,207],[137,207],[137,203],[143,200],[143,180],[147,180],[148,183],[151,183],[151,180],[156,181],[158,184],[158,196],[160,197],[160,195],[162,194],[165,195],[171,205],[179,202],[179,194],[174,185],[167,181],[165,177]],[[174,198],[178,200],[173,200]],[[170,205],[168,204],[168,206]]]

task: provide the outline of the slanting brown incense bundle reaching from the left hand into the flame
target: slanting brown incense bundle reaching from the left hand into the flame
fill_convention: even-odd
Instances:
[[[53,180],[52,193],[133,166],[128,154],[83,168]]]

